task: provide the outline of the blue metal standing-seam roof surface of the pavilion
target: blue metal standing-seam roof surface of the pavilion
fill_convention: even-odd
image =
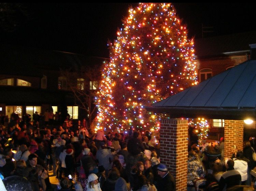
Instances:
[[[255,108],[255,98],[256,60],[250,60],[157,102],[153,108]]]

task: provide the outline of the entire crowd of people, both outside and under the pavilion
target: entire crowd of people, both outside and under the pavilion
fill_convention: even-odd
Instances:
[[[175,190],[174,177],[160,163],[159,133],[94,132],[85,119],[73,122],[69,117],[61,125],[51,120],[39,125],[37,115],[33,121],[29,116],[0,121],[0,177],[6,190],[14,182],[33,191]],[[219,143],[189,146],[187,190],[195,190],[197,180],[209,191],[251,186],[254,141],[245,141],[243,150],[233,145],[230,158],[224,158],[223,138]],[[59,180],[55,188],[48,170]]]

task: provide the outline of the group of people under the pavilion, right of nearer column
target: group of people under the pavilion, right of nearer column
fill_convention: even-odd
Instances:
[[[232,156],[224,157],[224,139],[220,142],[203,143],[201,147],[193,144],[188,152],[187,190],[203,186],[206,190],[226,191],[246,185],[251,187],[254,177],[250,172],[255,168],[253,159],[255,138],[244,142],[243,150],[236,145],[231,147]]]

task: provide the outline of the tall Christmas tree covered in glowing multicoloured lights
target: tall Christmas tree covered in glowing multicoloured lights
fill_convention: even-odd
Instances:
[[[172,4],[130,8],[104,63],[95,130],[158,130],[159,116],[143,106],[196,84],[195,69],[193,39]]]

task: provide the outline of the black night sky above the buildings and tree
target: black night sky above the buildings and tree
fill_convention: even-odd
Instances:
[[[0,43],[108,57],[108,39],[116,38],[128,7],[137,3],[0,3]],[[256,30],[252,4],[174,3],[189,37]],[[15,27],[13,25],[15,24]]]

